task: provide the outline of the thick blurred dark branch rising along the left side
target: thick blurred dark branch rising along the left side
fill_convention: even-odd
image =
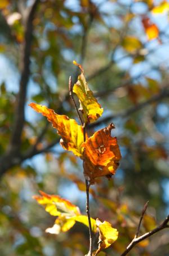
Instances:
[[[0,159],[0,176],[6,172],[12,166],[21,162],[20,146],[21,146],[21,134],[25,122],[25,100],[28,87],[28,80],[30,75],[30,51],[33,37],[33,19],[35,10],[37,8],[39,0],[35,0],[33,5],[25,10],[23,16],[23,22],[25,25],[25,36],[23,44],[21,45],[21,78],[19,84],[19,93],[16,99],[16,108],[14,113],[14,126],[12,129],[10,143],[8,145],[7,152],[1,156]]]

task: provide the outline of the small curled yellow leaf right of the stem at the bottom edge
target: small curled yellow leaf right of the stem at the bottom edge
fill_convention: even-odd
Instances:
[[[112,225],[108,221],[101,222],[96,219],[96,225],[99,228],[99,248],[97,249],[95,256],[103,249],[108,248],[118,238],[118,231],[112,228]]]

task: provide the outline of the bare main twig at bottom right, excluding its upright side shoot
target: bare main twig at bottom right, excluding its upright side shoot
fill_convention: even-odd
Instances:
[[[139,242],[145,240],[146,238],[152,236],[153,234],[161,231],[164,228],[168,228],[169,225],[167,224],[169,221],[169,215],[166,217],[166,219],[164,219],[164,221],[162,222],[162,224],[160,224],[158,227],[154,228],[152,231],[143,234],[143,236],[140,237],[135,237],[131,243],[127,246],[126,250],[123,251],[123,253],[121,254],[121,256],[127,255],[129,251],[131,251],[132,248],[134,248],[134,246],[136,244],[139,244]]]

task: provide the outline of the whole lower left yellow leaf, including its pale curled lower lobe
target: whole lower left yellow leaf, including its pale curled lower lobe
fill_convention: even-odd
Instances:
[[[49,195],[43,191],[39,191],[41,195],[34,195],[33,198],[39,204],[45,206],[45,210],[52,216],[57,216],[55,224],[51,228],[47,228],[46,232],[51,234],[59,234],[66,232],[73,227],[75,222],[82,223],[88,227],[88,218],[82,215],[77,206],[70,203],[69,200],[59,197],[59,195]],[[96,232],[96,220],[91,218],[92,231]]]

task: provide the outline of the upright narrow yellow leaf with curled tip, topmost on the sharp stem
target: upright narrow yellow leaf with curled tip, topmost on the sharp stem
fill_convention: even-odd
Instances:
[[[95,122],[102,115],[103,108],[97,102],[94,93],[88,88],[82,66],[75,61],[73,63],[81,69],[81,75],[78,76],[78,81],[73,86],[73,92],[77,95],[80,103],[79,110],[82,112],[85,123]]]

